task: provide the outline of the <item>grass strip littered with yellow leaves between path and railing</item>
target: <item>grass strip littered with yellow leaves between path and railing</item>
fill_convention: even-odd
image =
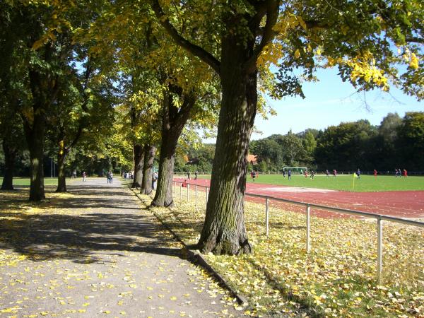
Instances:
[[[140,196],[146,205],[150,197]],[[185,196],[175,208],[153,208],[187,245],[199,240],[204,196]],[[177,198],[176,198],[177,199]],[[213,268],[245,294],[254,317],[421,317],[424,314],[424,232],[384,223],[384,275],[376,280],[375,222],[311,218],[312,250],[305,252],[305,216],[273,206],[264,235],[264,206],[247,202],[246,228],[254,252],[206,255]]]

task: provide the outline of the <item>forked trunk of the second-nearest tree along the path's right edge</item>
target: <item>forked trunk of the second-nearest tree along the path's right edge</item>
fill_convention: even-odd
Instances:
[[[182,106],[175,107],[170,91],[178,92]],[[172,206],[172,178],[174,175],[175,149],[179,135],[189,119],[194,106],[194,96],[181,92],[181,88],[171,87],[163,91],[162,142],[160,146],[158,187],[152,206]]]

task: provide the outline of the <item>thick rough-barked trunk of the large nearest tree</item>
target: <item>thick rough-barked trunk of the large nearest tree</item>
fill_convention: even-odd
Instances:
[[[248,57],[249,49],[238,46],[236,39],[223,40],[220,73],[223,95],[216,153],[198,243],[204,253],[242,254],[252,249],[245,228],[244,200],[247,151],[257,111],[257,71],[242,71],[242,61]]]

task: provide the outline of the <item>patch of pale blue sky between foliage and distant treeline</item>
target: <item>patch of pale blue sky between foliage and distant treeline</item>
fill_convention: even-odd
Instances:
[[[254,124],[262,134],[254,132],[252,139],[287,134],[290,129],[294,133],[307,128],[325,129],[358,119],[368,119],[371,124],[378,125],[389,112],[397,112],[403,117],[405,112],[424,111],[424,102],[418,102],[394,87],[391,87],[390,94],[375,90],[364,95],[355,93],[350,83],[343,83],[336,69],[319,71],[317,77],[319,82],[304,83],[305,99],[269,98],[267,101],[278,114],[268,120],[257,115]]]

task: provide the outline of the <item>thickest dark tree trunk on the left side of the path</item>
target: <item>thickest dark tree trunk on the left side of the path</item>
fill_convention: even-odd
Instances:
[[[30,201],[45,199],[44,188],[44,137],[45,115],[35,112],[32,129],[25,129],[30,151]]]

